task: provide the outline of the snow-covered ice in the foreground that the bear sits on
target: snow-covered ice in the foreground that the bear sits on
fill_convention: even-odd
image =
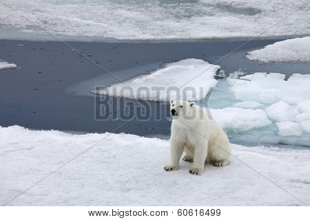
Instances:
[[[183,161],[179,170],[166,172],[163,167],[169,162],[169,141],[157,138],[123,133],[72,135],[10,126],[0,127],[0,140],[1,205],[49,174],[6,205],[303,206],[310,203],[307,148],[231,144],[233,157],[228,166],[206,165],[205,173],[196,176],[189,174],[192,164]]]

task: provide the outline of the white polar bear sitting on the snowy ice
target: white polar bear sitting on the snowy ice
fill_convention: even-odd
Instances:
[[[214,166],[229,164],[231,148],[223,129],[210,119],[204,109],[195,102],[171,100],[170,112],[172,126],[170,137],[170,164],[166,171],[177,170],[180,157],[193,162],[189,173],[200,175],[205,168],[205,162]]]

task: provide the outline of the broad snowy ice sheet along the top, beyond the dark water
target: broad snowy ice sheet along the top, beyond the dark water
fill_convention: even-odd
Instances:
[[[3,3],[6,5],[0,8],[0,35],[10,39],[33,39],[41,35],[55,40],[48,33],[105,41],[309,34],[310,14],[303,6],[306,0],[280,3],[200,0],[194,4],[192,1],[168,0],[3,0]]]

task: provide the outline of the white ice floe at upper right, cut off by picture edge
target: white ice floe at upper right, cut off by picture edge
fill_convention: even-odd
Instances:
[[[267,45],[260,50],[254,50],[247,53],[246,58],[250,60],[262,61],[310,61],[310,36],[279,41],[272,45]]]

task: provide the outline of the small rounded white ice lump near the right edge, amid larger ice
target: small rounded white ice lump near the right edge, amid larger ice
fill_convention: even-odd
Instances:
[[[277,122],[294,121],[296,115],[299,113],[295,107],[292,107],[287,104],[287,102],[283,101],[271,104],[271,106],[265,109],[265,111],[268,118]]]

